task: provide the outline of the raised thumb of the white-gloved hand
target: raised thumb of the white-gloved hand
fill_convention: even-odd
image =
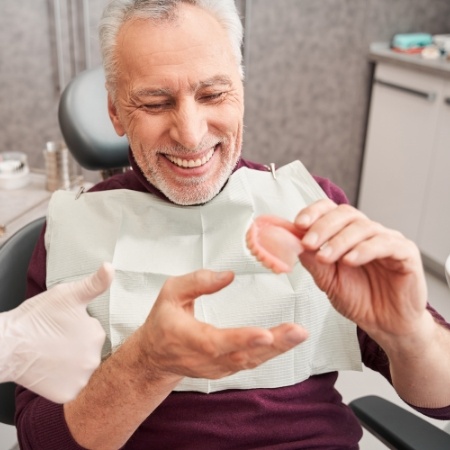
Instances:
[[[97,272],[72,283],[70,290],[73,300],[87,305],[109,288],[113,278],[113,266],[110,263],[103,263]]]

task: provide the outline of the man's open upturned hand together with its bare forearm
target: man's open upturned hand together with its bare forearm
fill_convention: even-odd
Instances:
[[[79,445],[121,448],[184,377],[217,379],[250,369],[306,339],[296,324],[217,329],[196,320],[195,300],[233,278],[232,272],[199,270],[166,280],[144,324],[64,405]]]

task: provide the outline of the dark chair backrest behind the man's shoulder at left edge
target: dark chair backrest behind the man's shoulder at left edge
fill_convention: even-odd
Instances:
[[[0,312],[25,300],[28,264],[44,221],[44,217],[35,219],[0,247]],[[15,388],[15,383],[0,383],[0,422],[7,425],[14,425]]]

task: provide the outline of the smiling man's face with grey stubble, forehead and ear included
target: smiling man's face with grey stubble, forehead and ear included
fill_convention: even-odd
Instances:
[[[243,86],[227,30],[190,5],[177,15],[173,25],[121,27],[109,111],[147,180],[193,205],[215,197],[239,160]]]

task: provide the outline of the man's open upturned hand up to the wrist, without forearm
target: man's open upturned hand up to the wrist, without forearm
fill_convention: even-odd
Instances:
[[[218,329],[194,318],[194,302],[233,281],[232,272],[197,272],[170,278],[146,322],[138,329],[141,353],[152,374],[163,377],[221,378],[251,369],[307,338],[296,324],[270,330]],[[211,300],[213,301],[213,300]]]

